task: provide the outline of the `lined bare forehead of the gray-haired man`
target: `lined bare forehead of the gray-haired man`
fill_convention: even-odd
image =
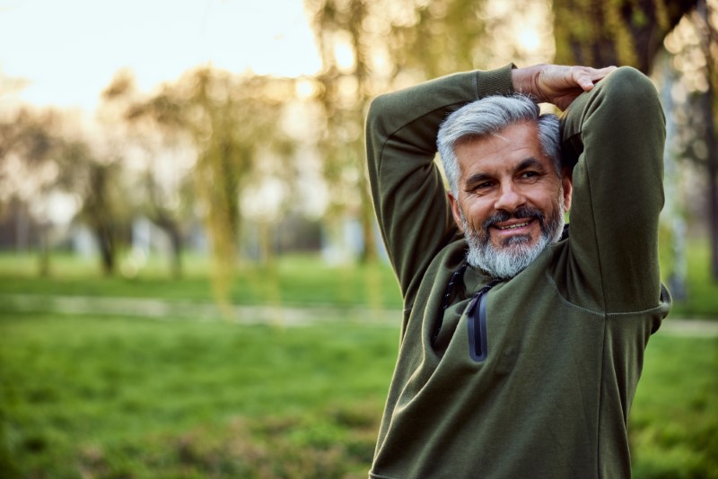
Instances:
[[[529,159],[553,170],[552,161],[541,151],[538,126],[533,123],[506,126],[494,135],[462,138],[454,152],[459,161],[461,178],[476,172],[498,174],[512,171]]]

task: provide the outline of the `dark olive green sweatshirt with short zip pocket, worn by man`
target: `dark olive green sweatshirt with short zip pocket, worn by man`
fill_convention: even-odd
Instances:
[[[436,134],[451,111],[510,92],[507,66],[372,102],[374,206],[405,308],[372,478],[631,474],[628,412],[670,309],[657,244],[661,105],[631,68],[575,100],[562,119],[565,160],[577,161],[570,234],[487,292],[483,315],[467,309],[491,278],[470,266],[443,309],[467,245],[433,162]],[[486,358],[469,354],[470,325],[484,328]]]

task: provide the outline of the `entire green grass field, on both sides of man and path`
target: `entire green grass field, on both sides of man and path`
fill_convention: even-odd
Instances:
[[[0,256],[0,297],[213,297],[201,262],[181,280],[161,264],[128,280],[62,256],[37,278],[33,261]],[[687,310],[715,317],[704,286]],[[245,268],[232,302],[400,306],[388,267],[302,257]],[[0,477],[366,477],[398,325],[167,319],[0,301]],[[717,370],[718,337],[652,337],[630,417],[635,477],[718,478]]]

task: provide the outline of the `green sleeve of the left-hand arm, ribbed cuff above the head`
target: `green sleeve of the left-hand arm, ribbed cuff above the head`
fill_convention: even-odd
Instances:
[[[511,69],[453,74],[372,101],[366,121],[369,179],[405,304],[436,253],[459,234],[433,162],[439,126],[472,100],[511,92]]]

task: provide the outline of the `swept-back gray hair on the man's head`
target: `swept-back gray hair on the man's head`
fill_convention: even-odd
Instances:
[[[457,109],[443,122],[436,139],[443,170],[454,196],[459,194],[459,160],[454,148],[467,137],[495,135],[506,126],[530,122],[538,126],[541,152],[550,158],[556,174],[561,176],[560,127],[553,114],[540,114],[534,100],[521,94],[490,96]]]

